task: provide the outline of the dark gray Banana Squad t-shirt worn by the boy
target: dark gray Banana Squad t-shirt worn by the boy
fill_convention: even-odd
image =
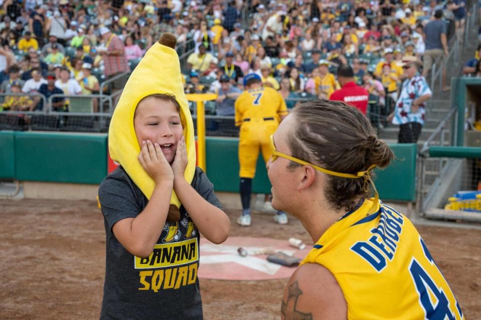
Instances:
[[[222,209],[213,185],[200,168],[191,186],[209,203]],[[115,238],[119,220],[135,218],[148,203],[122,167],[99,188],[104,216],[106,261],[101,319],[202,319],[197,270],[199,232],[184,207],[180,221],[166,222],[153,252],[139,258]]]

